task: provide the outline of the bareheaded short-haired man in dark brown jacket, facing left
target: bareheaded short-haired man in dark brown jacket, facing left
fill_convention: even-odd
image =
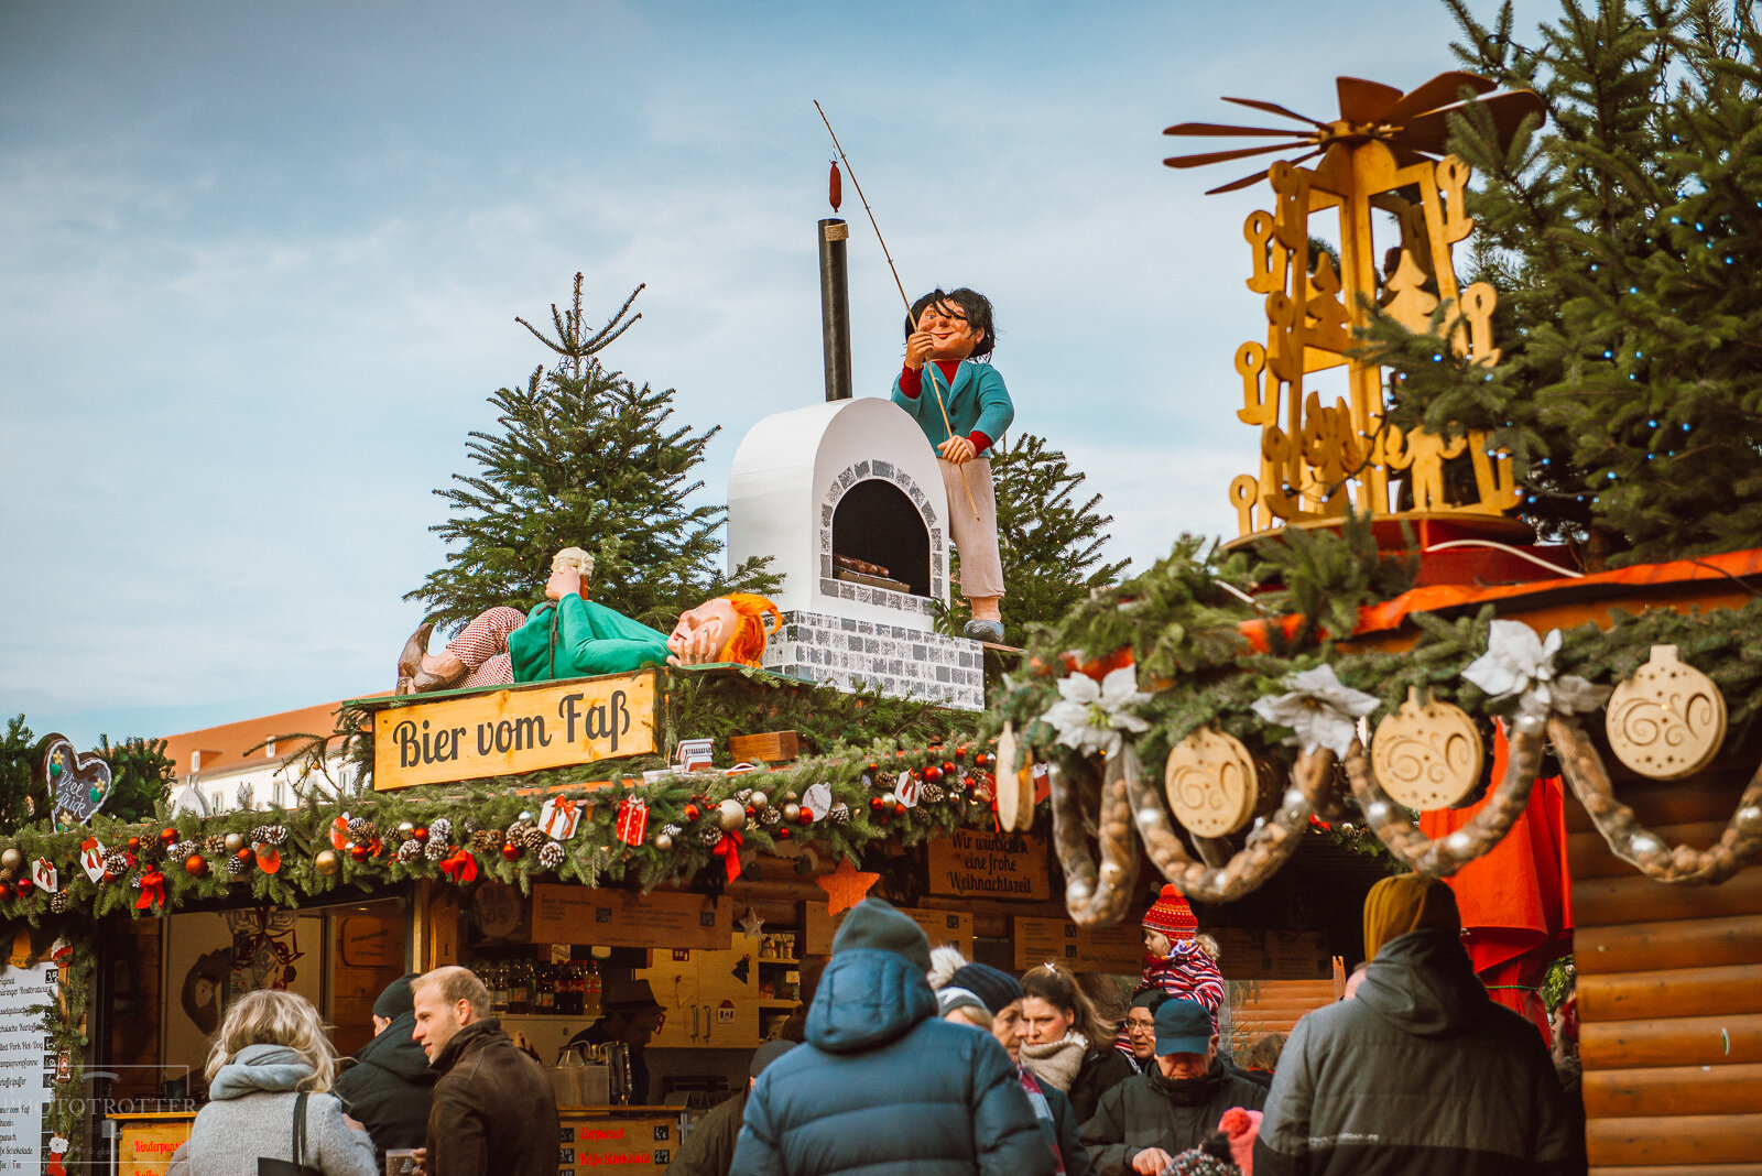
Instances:
[[[467,968],[416,979],[416,1030],[439,1072],[428,1109],[426,1176],[557,1176],[557,1100],[544,1070],[515,1049],[490,993]]]

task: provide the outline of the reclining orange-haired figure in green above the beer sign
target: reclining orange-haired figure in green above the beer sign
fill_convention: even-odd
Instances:
[[[544,602],[479,613],[439,655],[426,653],[423,623],[398,658],[398,694],[624,674],[643,665],[758,665],[782,616],[765,597],[729,593],[680,614],[671,636],[587,597],[594,558],[566,548],[552,562]],[[766,628],[765,614],[775,623]]]

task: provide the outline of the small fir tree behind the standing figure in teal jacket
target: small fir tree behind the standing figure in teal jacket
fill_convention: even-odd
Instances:
[[[1114,516],[1098,514],[1101,495],[1077,503],[1084,474],[1071,470],[1061,451],[1048,449],[1045,437],[1024,433],[1008,447],[999,442],[990,465],[997,493],[997,553],[1003,556],[1003,616],[1011,636],[1020,639],[1027,625],[1057,623],[1091,588],[1115,583],[1129,560],[1101,560],[1108,540],[1103,528]],[[951,563],[959,576],[959,551]],[[967,616],[966,599],[955,595],[950,630],[960,632]]]

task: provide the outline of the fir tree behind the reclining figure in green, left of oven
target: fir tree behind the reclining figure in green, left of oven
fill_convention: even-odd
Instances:
[[[703,489],[692,470],[721,426],[673,426],[673,389],[636,384],[599,352],[641,319],[636,287],[603,327],[587,331],[581,275],[569,310],[552,305],[555,338],[515,319],[557,354],[520,387],[490,396],[499,431],[470,433],[474,474],[435,493],[451,518],[432,526],[451,551],[405,600],[421,600],[439,628],[497,606],[539,602],[552,556],[594,555],[592,597],[657,628],[724,592],[770,592],[777,577],[747,560],[724,576],[722,505],[687,505]]]

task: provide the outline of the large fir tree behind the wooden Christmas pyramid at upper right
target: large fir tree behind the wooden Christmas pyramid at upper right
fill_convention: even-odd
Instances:
[[[1762,72],[1750,4],[1565,0],[1533,44],[1447,0],[1455,53],[1542,95],[1503,143],[1484,111],[1452,150],[1478,174],[1468,280],[1499,292],[1499,364],[1434,331],[1373,327],[1392,421],[1494,430],[1519,511],[1591,565],[1762,546]],[[1450,308],[1440,308],[1447,327]],[[1440,361],[1440,356],[1443,361]]]

